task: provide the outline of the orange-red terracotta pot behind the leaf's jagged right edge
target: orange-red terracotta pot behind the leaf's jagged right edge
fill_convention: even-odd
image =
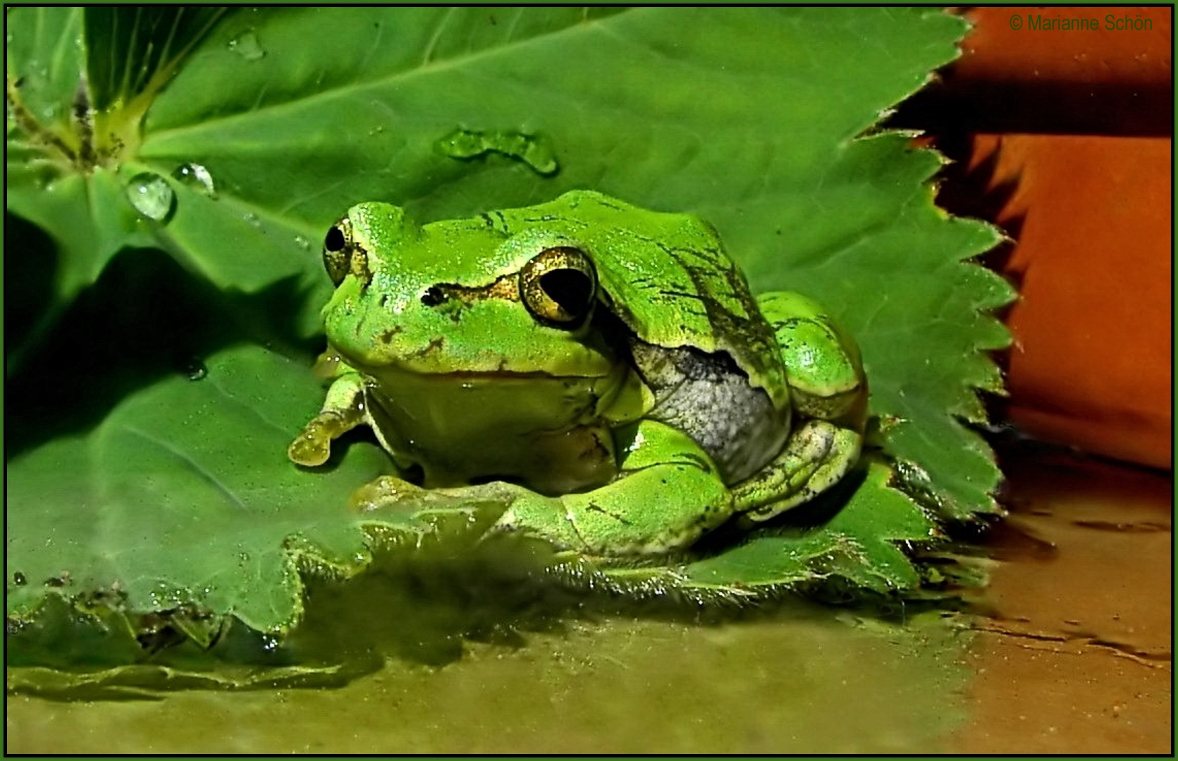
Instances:
[[[990,258],[1021,293],[1000,413],[1172,470],[1172,8],[966,15],[964,58],[898,121],[960,160],[942,205],[1015,240]]]

